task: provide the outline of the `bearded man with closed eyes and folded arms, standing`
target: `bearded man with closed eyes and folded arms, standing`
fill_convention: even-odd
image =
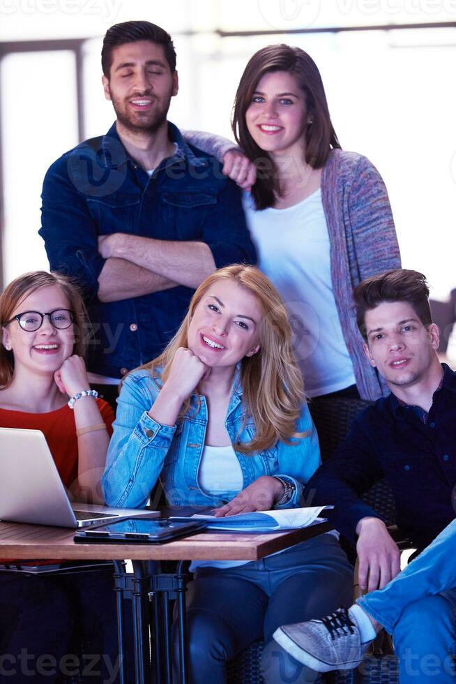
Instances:
[[[91,380],[106,388],[158,356],[206,276],[255,252],[236,185],[167,121],[178,92],[169,34],[116,24],[101,60],[116,121],[47,171],[40,235],[51,269],[82,286]]]

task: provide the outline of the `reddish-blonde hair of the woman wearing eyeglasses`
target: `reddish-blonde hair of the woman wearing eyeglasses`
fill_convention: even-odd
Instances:
[[[73,311],[73,330],[75,333],[75,346],[73,354],[85,358],[87,340],[89,339],[89,318],[87,316],[82,296],[71,278],[59,273],[47,273],[46,271],[31,271],[15,278],[0,295],[0,326],[6,325],[13,315],[13,311],[23,300],[40,288],[56,285],[68,299],[68,304]],[[0,388],[6,389],[14,374],[14,354],[8,351],[0,341]]]

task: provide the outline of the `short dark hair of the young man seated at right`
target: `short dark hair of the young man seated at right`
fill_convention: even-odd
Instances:
[[[383,302],[406,302],[413,307],[413,311],[423,325],[432,323],[429,287],[425,276],[418,271],[393,269],[372,276],[372,278],[366,278],[355,288],[353,298],[356,307],[356,323],[366,342],[366,311],[370,311]]]

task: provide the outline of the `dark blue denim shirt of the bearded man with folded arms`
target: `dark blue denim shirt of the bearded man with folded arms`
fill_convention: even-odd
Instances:
[[[114,232],[160,240],[202,241],[215,266],[253,263],[241,195],[215,158],[186,144],[173,124],[173,156],[149,177],[123,147],[116,125],[86,140],[47,171],[40,235],[52,270],[79,281],[93,336],[89,370],[119,378],[160,354],[188,310],[194,290],[178,285],[116,302],[100,302],[105,259],[98,236]]]

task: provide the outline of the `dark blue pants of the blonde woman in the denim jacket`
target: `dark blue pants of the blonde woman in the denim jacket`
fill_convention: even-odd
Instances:
[[[190,683],[224,684],[227,660],[256,639],[265,641],[266,684],[319,681],[273,641],[273,632],[348,605],[352,591],[353,567],[332,535],[238,567],[199,568],[188,585]]]

